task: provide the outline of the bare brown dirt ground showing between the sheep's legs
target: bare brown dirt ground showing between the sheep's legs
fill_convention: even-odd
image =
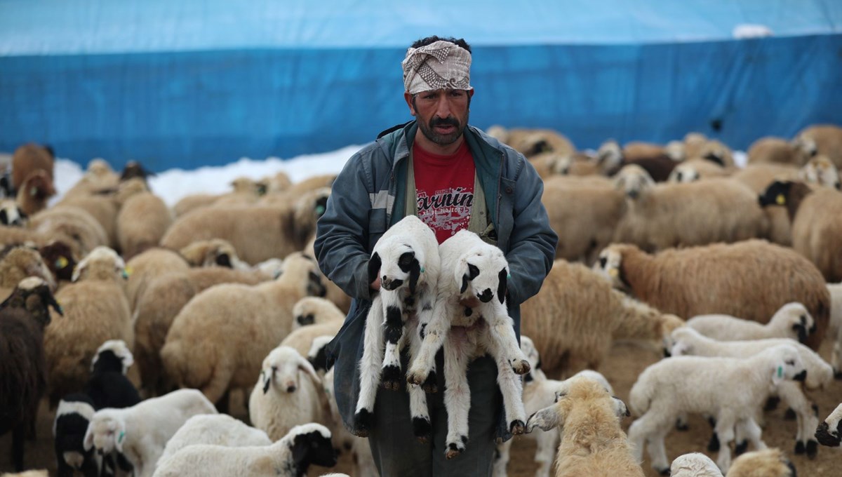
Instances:
[[[823,358],[829,359],[831,343],[825,341],[820,350]],[[649,364],[658,360],[658,354],[653,350],[638,346],[634,343],[617,343],[610,352],[600,370],[610,383],[614,386],[617,395],[626,400],[629,390],[632,388],[637,375]],[[833,411],[836,405],[842,401],[842,381],[835,381],[828,389],[814,392],[811,397],[816,401],[819,408],[820,419],[823,419]],[[232,410],[237,417],[245,419],[247,413],[242,407],[242,398],[234,395]],[[839,475],[839,469],[832,470],[839,465],[839,458],[842,456],[833,449],[819,447],[818,457],[810,460],[806,456],[796,456],[793,453],[795,446],[795,421],[784,420],[784,409],[768,412],[765,415],[766,425],[763,432],[763,439],[770,447],[779,447],[786,451],[786,454],[795,464],[799,475],[810,477],[822,477]],[[37,426],[37,438],[35,443],[26,443],[25,463],[28,469],[49,469],[51,475],[56,474],[56,457],[53,451],[52,420],[55,416],[53,411],[46,410],[46,403],[41,405],[40,416]],[[624,429],[632,424],[632,418],[628,417],[623,421]],[[670,432],[667,437],[667,454],[669,458],[676,458],[681,453],[706,452],[707,440],[710,437],[710,427],[701,417],[693,416],[690,419],[690,431]],[[11,435],[0,437],[0,472],[11,470],[9,449],[11,448]],[[512,458],[509,462],[509,475],[512,477],[527,477],[534,474],[536,464],[533,462],[535,445],[527,438],[516,437],[512,448]],[[716,458],[716,456],[713,456]],[[321,475],[333,472],[351,472],[351,461],[348,456],[340,458],[339,464],[333,469],[311,469],[309,475]],[[643,469],[647,477],[655,477],[657,474],[649,468],[648,459],[643,462]]]

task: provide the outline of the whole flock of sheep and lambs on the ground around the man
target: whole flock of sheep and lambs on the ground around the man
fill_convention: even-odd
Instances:
[[[550,130],[489,134],[544,178],[559,236],[509,350],[529,363],[522,399],[504,390],[528,418],[536,475],[553,461],[557,475],[643,475],[648,451],[662,474],[785,476],[789,451],[839,447],[842,410],[813,403],[842,372],[842,128],[758,140],[745,167],[698,134],[595,154]],[[12,433],[16,470],[45,467],[25,441],[55,412],[60,475],[301,475],[336,464],[336,449],[354,456],[351,474],[376,474],[324,366],[350,305],[312,258],[333,177],[237,178],[231,193],[170,208],[139,165],[118,174],[94,160],[48,207],[52,162],[48,148],[21,146],[0,184],[0,433]],[[672,356],[620,400],[598,372],[623,340]],[[430,369],[407,371],[424,384]],[[232,393],[251,426],[226,416]],[[772,398],[795,412],[791,449],[762,439],[778,425],[763,413]],[[711,420],[715,464],[666,455],[690,415]],[[498,445],[496,476],[512,445]]]

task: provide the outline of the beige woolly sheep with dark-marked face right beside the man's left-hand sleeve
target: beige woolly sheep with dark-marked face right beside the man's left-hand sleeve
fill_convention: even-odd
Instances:
[[[221,238],[251,264],[285,257],[304,248],[329,193],[330,189],[320,188],[283,204],[198,209],[175,220],[161,246],[180,250],[197,240]]]

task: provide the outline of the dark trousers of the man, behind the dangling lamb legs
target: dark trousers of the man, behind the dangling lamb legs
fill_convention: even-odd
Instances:
[[[374,426],[369,434],[369,445],[382,477],[491,475],[496,448],[494,437],[503,400],[497,385],[497,365],[486,355],[477,358],[468,366],[468,384],[471,388],[468,443],[464,453],[448,460],[445,458],[447,411],[441,355],[439,352],[436,357],[439,392],[427,395],[429,416],[433,425],[432,442],[420,443],[413,436],[409,395],[405,389],[391,391],[381,388],[377,391]],[[403,363],[404,369],[406,364]]]

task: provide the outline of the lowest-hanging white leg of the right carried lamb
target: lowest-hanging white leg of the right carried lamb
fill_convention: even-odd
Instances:
[[[465,451],[468,442],[468,411],[471,408],[471,389],[468,387],[467,343],[448,342],[445,346],[445,409],[447,437],[445,457],[455,458]]]

